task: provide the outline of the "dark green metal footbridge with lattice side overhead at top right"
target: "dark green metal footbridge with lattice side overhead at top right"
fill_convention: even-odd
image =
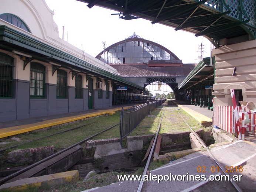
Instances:
[[[256,38],[255,0],[79,0],[204,36],[215,47]],[[239,39],[238,39],[239,37]],[[231,40],[232,39],[232,40]],[[223,40],[223,41],[221,41]]]

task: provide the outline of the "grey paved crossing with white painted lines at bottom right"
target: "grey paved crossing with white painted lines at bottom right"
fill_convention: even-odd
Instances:
[[[214,147],[211,149],[211,152],[224,167],[223,171],[218,167],[218,165],[206,151],[195,152],[176,161],[170,162],[163,167],[151,171],[150,174],[148,174],[149,176],[151,175],[151,181],[144,181],[142,192],[235,192],[235,188],[233,188],[232,184],[228,181],[208,181],[211,175],[211,179],[214,178],[214,175],[219,175],[216,176],[216,179],[220,179],[221,177],[223,177],[221,175],[224,175],[224,172],[226,170],[229,171],[227,174],[229,174],[230,179],[240,178],[240,181],[235,182],[243,192],[255,191],[255,137],[252,137],[251,141],[237,140],[234,143],[228,145]],[[233,169],[233,167],[237,167],[237,169]],[[162,179],[162,181],[159,181],[158,183],[157,180],[153,181],[154,178],[160,178]],[[167,181],[164,181],[164,179]],[[120,181],[115,184],[104,186],[102,188],[91,189],[91,191],[137,191],[138,186],[139,181]]]

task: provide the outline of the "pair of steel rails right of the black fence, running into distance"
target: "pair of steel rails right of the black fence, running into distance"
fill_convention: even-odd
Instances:
[[[168,101],[172,106],[176,105],[174,102],[172,101]],[[162,117],[161,117],[161,120],[160,120],[160,123],[158,125],[158,130],[157,130],[157,133],[156,133],[156,136],[154,138],[154,143],[153,143],[153,146],[150,150],[150,154],[149,154],[149,158],[147,160],[147,164],[144,168],[144,171],[143,171],[143,175],[141,176],[142,178],[144,178],[144,175],[147,174],[147,171],[148,171],[148,167],[149,167],[149,164],[150,164],[150,161],[151,161],[151,157],[152,157],[152,154],[153,154],[153,151],[154,151],[154,148],[155,148],[155,144],[156,144],[156,141],[157,141],[157,137],[158,137],[158,132],[160,130],[160,127],[161,127],[161,123],[163,121],[163,116],[164,116],[164,112],[165,112],[165,108],[166,108],[166,105],[167,103],[165,103],[165,107],[164,107],[164,111],[163,111],[163,114],[162,114]],[[177,110],[177,109],[176,109]],[[178,110],[177,110],[178,111]],[[209,156],[214,160],[214,162],[216,163],[217,166],[219,166],[219,168],[222,170],[222,172],[225,174],[225,175],[228,175],[228,173],[225,172],[225,168],[220,164],[220,162],[214,157],[214,155],[211,153],[211,151],[209,151],[208,147],[205,145],[204,141],[198,136],[198,134],[192,129],[192,127],[187,123],[187,121],[184,119],[184,117],[182,117],[182,115],[178,112],[178,114],[180,115],[181,119],[185,122],[185,124],[187,124],[187,126],[190,128],[191,132],[194,134],[194,136],[197,138],[197,140],[199,141],[199,143],[204,147],[204,149],[207,151],[207,153],[209,154]],[[232,186],[236,189],[236,191],[238,192],[242,192],[242,190],[239,188],[239,186],[234,182],[234,181],[231,181],[229,180],[229,182],[231,182]],[[144,180],[141,179],[140,181],[140,184],[139,184],[139,187],[137,188],[137,192],[141,192],[141,190],[143,189],[143,191],[148,191],[147,189],[144,189],[143,188],[143,184],[144,184]],[[171,187],[171,186],[170,186]]]

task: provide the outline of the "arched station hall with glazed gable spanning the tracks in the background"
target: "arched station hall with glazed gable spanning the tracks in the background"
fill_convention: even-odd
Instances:
[[[143,88],[149,84],[166,83],[176,98],[180,98],[178,86],[196,66],[184,64],[169,49],[135,32],[125,40],[110,45],[96,58],[115,68],[126,80]],[[120,93],[113,90],[113,94],[118,97]]]

